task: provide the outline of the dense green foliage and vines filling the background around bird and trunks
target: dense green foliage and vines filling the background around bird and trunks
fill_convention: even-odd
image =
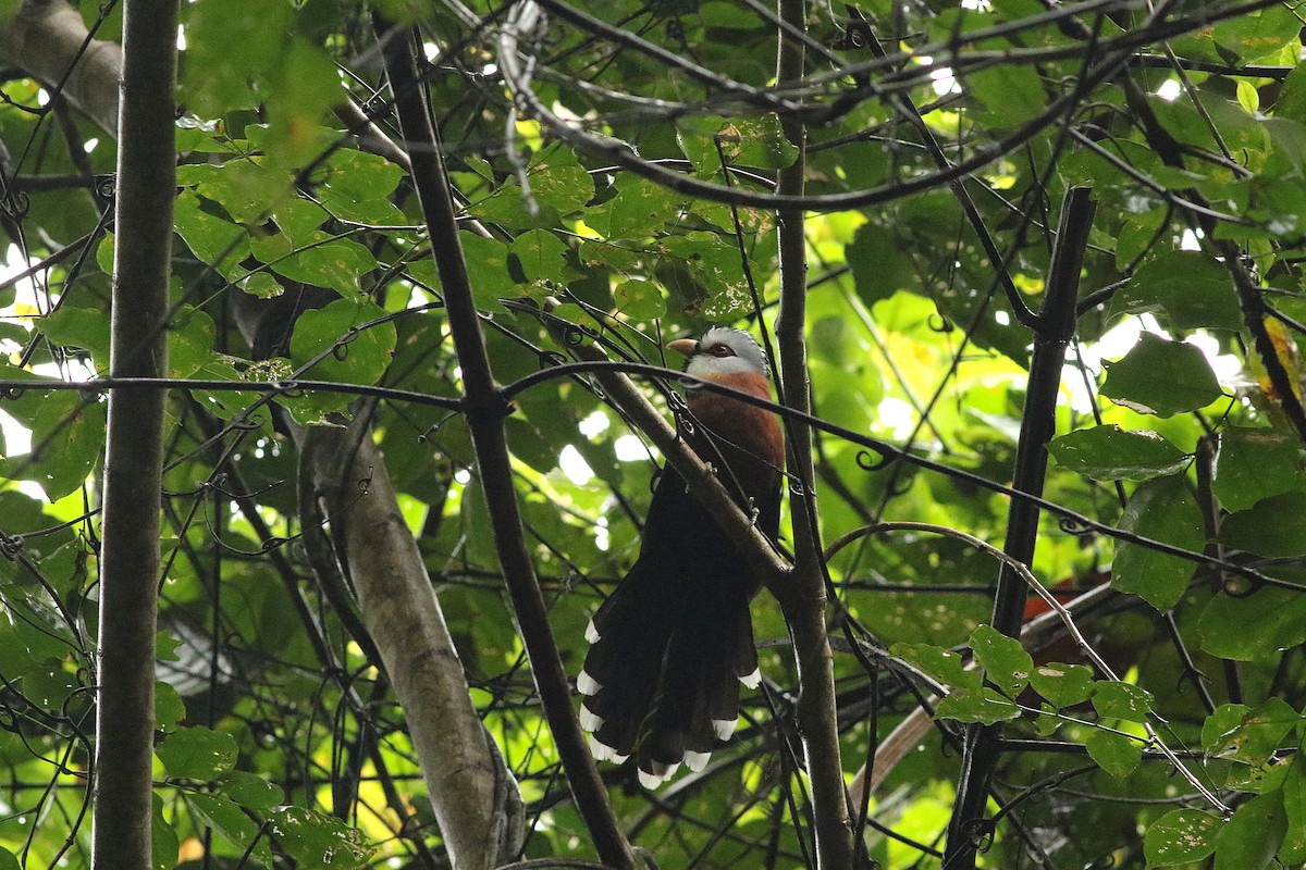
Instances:
[[[349,578],[332,587],[313,563],[324,522],[295,485],[287,433],[358,417],[521,788],[522,857],[594,857],[448,402],[460,361],[374,12],[422,34],[500,383],[596,346],[675,368],[665,340],[708,323],[769,335],[774,176],[806,162],[789,205],[808,211],[821,536],[943,527],[828,558],[849,780],[936,708],[854,806],[871,861],[940,866],[963,736],[1006,723],[996,818],[965,831],[983,866],[1306,862],[1299,4],[818,3],[806,34],[748,0],[550,1],[537,29],[526,3],[375,5],[183,8],[170,368],[202,383],[170,399],[158,867],[439,866],[404,710]],[[82,13],[116,38],[115,4]],[[802,81],[776,83],[777,42],[804,47]],[[0,870],[89,863],[104,391],[55,387],[107,367],[114,194],[112,140],[51,83],[7,74]],[[1059,385],[1034,395],[1036,312],[1075,188],[1096,214],[1074,337]],[[272,326],[242,331],[251,307]],[[667,407],[674,380],[641,382]],[[1003,547],[1032,406],[1055,438],[1030,579],[1089,596],[1074,622],[1092,655],[1055,616],[1028,650],[990,627],[1000,562],[947,533]],[[575,676],[586,620],[637,552],[656,455],[588,374],[513,393],[505,425]],[[603,768],[622,828],[663,869],[815,862],[769,595],[754,621],[765,680],[712,766],[660,793]]]

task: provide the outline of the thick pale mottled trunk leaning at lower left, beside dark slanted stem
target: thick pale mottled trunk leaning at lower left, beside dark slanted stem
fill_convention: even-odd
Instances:
[[[367,630],[404,704],[453,866],[479,870],[516,858],[521,794],[468,695],[462,661],[371,427],[312,428],[298,441]]]

